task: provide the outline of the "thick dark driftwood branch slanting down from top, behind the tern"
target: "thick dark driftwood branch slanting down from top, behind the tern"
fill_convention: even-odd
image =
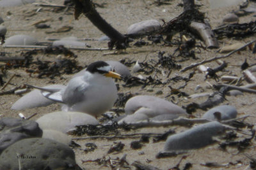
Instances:
[[[73,0],[75,3],[75,18],[78,19],[79,15],[83,13],[93,25],[100,31],[106,34],[111,39],[109,48],[125,48],[126,37],[114,29],[106,20],[104,20],[95,9],[95,5],[91,0]]]

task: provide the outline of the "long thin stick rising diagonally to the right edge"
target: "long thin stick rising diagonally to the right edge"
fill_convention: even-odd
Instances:
[[[189,69],[192,69],[192,68],[194,68],[194,67],[200,66],[201,64],[205,64],[205,63],[207,63],[207,62],[212,62],[212,61],[214,61],[214,60],[227,58],[227,57],[229,57],[230,55],[232,55],[233,53],[236,53],[236,52],[238,52],[239,50],[242,50],[244,47],[246,47],[246,46],[248,46],[248,45],[251,45],[251,44],[254,43],[255,41],[256,41],[256,39],[253,40],[253,41],[250,41],[249,43],[246,43],[246,45],[241,46],[240,48],[237,48],[236,50],[234,50],[234,51],[228,53],[227,55],[221,55],[221,56],[219,56],[219,57],[212,57],[211,59],[208,59],[208,60],[202,60],[201,62],[193,63],[193,64],[191,64],[190,66],[187,66],[187,67],[184,67],[184,69],[181,69],[180,72],[185,72],[185,71],[187,71],[187,70],[189,70]]]

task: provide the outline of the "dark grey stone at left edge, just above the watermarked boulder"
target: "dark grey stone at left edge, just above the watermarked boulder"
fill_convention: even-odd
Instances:
[[[21,139],[42,136],[42,130],[36,122],[21,118],[1,118],[0,129],[0,153]]]

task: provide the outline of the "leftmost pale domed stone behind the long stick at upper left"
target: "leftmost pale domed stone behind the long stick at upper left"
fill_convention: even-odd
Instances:
[[[7,38],[4,45],[36,45],[37,42],[32,36],[15,35]]]

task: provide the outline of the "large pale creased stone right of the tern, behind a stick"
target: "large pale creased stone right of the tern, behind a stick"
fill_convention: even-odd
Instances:
[[[154,96],[135,96],[125,104],[127,117],[122,118],[118,124],[136,123],[142,120],[172,120],[182,115],[187,115],[186,111],[164,99]]]

